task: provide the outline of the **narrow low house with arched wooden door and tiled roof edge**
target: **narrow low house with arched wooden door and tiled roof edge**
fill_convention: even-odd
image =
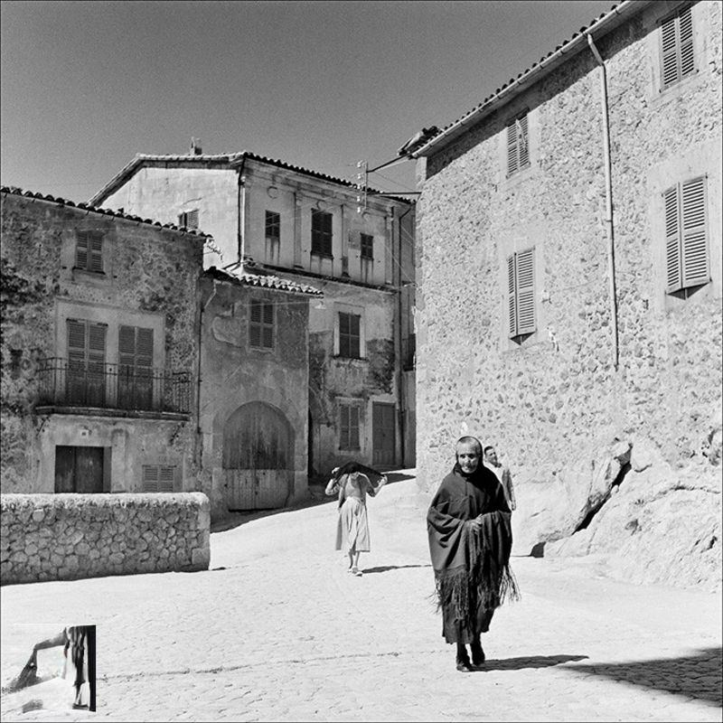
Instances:
[[[214,516],[308,493],[309,302],[322,297],[259,269],[203,274],[199,431]]]

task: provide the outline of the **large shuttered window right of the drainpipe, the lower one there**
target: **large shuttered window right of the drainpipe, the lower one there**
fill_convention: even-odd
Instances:
[[[710,280],[705,176],[678,183],[663,193],[667,292]]]

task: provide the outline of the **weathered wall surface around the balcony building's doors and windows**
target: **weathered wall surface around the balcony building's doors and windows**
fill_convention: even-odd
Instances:
[[[104,234],[102,275],[73,268],[76,231],[90,229]],[[202,239],[8,193],[2,258],[8,284],[1,344],[3,491],[52,492],[54,447],[92,446],[94,439],[116,454],[122,476],[112,480],[113,490],[140,489],[143,464],[178,465],[192,480]],[[106,362],[112,364],[118,362],[118,324],[154,328],[154,366],[190,375],[189,414],[155,424],[127,415],[111,420],[37,412],[39,362],[67,358],[69,317],[108,324]],[[183,484],[179,480],[176,489]]]

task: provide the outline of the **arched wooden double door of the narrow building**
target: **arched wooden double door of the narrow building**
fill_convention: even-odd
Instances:
[[[231,414],[223,474],[229,510],[284,506],[294,487],[294,430],[277,408],[254,401]]]

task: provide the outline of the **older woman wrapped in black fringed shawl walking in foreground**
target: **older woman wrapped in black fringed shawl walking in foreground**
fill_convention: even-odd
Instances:
[[[502,485],[482,463],[478,439],[462,437],[455,451],[456,464],[429,506],[427,532],[442,634],[457,643],[457,670],[468,672],[484,663],[480,634],[489,630],[495,608],[518,592],[509,568],[511,513]]]

